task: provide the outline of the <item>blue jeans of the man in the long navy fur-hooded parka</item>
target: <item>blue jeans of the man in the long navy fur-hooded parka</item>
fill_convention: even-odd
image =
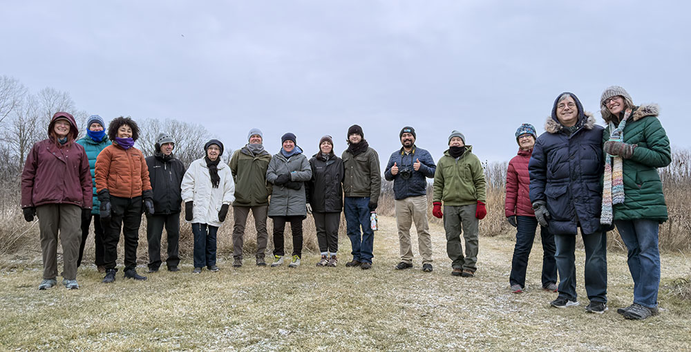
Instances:
[[[559,271],[560,298],[576,301],[576,236],[556,234],[554,256]],[[583,234],[585,292],[590,302],[607,302],[607,232]]]

